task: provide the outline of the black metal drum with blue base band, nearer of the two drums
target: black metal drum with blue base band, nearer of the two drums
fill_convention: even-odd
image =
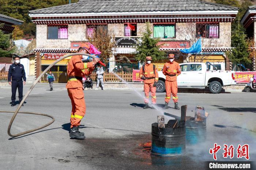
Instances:
[[[158,127],[158,123],[152,124],[151,152],[161,156],[185,154],[185,121],[176,121],[174,126],[168,124],[163,128]]]

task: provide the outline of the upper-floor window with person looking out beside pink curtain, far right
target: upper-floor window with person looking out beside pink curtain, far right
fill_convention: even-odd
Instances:
[[[219,26],[209,24],[196,24],[197,38],[219,38]]]

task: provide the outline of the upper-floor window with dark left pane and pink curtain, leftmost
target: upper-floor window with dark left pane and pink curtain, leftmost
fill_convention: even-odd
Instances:
[[[47,27],[47,39],[68,39],[68,27]]]

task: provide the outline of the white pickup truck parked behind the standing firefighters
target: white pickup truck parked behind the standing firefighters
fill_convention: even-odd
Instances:
[[[177,77],[178,88],[209,88],[211,93],[220,93],[223,86],[235,85],[234,71],[221,71],[210,62],[181,63],[181,74]],[[209,70],[214,68],[215,70]],[[165,91],[165,75],[158,72],[157,92]]]

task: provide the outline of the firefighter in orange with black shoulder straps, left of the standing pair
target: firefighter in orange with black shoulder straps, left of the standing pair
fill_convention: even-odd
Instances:
[[[158,81],[158,73],[157,69],[155,68],[155,65],[151,64],[152,58],[150,56],[146,57],[146,64],[144,64],[140,68],[140,79],[144,82],[144,92],[145,92],[145,106],[143,109],[147,109],[148,107],[148,101],[149,101],[149,91],[151,92],[151,100],[153,103],[153,107],[157,102],[157,97],[155,96],[156,91],[156,85]]]

